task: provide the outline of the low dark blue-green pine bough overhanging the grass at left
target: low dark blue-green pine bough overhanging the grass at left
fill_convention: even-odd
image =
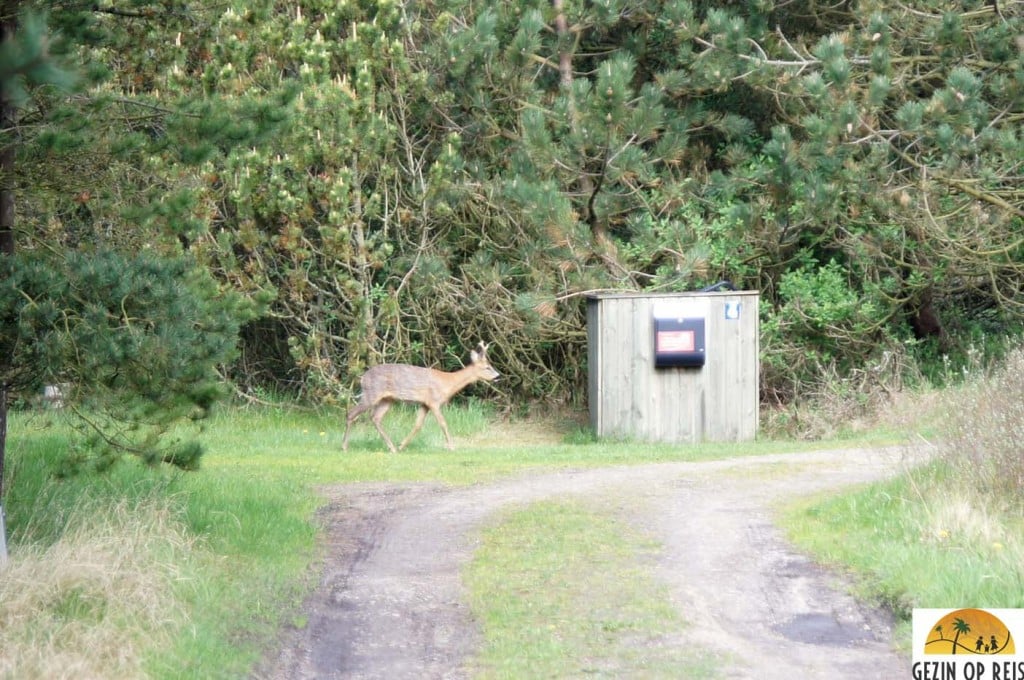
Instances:
[[[221,298],[182,258],[71,252],[58,262],[0,258],[4,384],[60,390],[50,400],[79,415],[87,434],[70,463],[104,466],[129,452],[198,466],[198,443],[161,435],[204,418],[221,394],[216,367],[234,354],[241,300]]]

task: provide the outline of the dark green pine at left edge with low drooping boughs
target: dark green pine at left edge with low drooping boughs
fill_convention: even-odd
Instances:
[[[58,6],[53,32],[34,9],[5,7],[0,51],[4,395],[73,385],[91,432],[79,462],[128,452],[194,468],[202,450],[160,434],[208,411],[251,313],[188,253],[211,221],[195,168],[266,134],[288,93],[174,90],[177,67],[205,61],[184,31],[210,29],[177,3]]]

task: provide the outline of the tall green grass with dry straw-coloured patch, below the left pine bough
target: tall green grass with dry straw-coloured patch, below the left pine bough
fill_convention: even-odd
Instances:
[[[175,588],[195,537],[164,480],[58,479],[67,438],[31,426],[15,424],[8,451],[0,678],[141,677],[185,615]]]

